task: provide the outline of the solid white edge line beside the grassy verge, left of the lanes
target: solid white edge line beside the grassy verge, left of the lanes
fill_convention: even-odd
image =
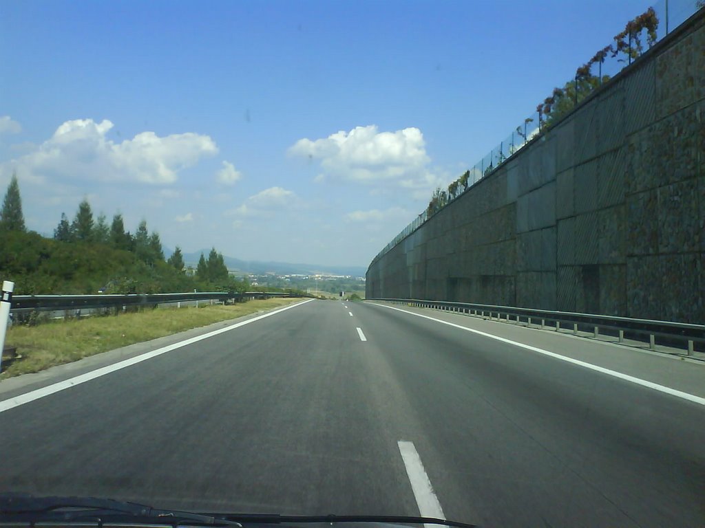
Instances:
[[[106,365],[105,367],[86,372],[85,374],[76,377],[64,379],[63,382],[47,385],[42,387],[41,389],[35,389],[34,391],[26,392],[25,394],[20,394],[19,396],[14,396],[13,398],[8,398],[6,400],[0,401],[0,413],[24,405],[25,403],[30,403],[30,401],[35,401],[39,398],[44,398],[44,396],[49,396],[50,394],[63,391],[64,389],[69,389],[72,386],[80,385],[82,383],[90,381],[91,379],[110,374],[111,372],[115,372],[116,370],[121,370],[125,367],[130,367],[131,365],[141,363],[142,361],[156,358],[157,356],[161,356],[161,354],[176,350],[176,348],[181,348],[182,346],[187,346],[193,343],[197,343],[198,341],[203,341],[204,339],[209,339],[209,337],[214,337],[218,334],[223,334],[223,332],[229,332],[230,330],[234,330],[235,328],[240,328],[242,326],[249,325],[251,322],[271,317],[272,315],[276,315],[277,313],[281,313],[285,310],[290,310],[291,308],[295,308],[296,306],[302,306],[306,303],[310,303],[313,300],[314,299],[308,299],[307,301],[303,301],[302,303],[291,304],[289,306],[285,306],[284,308],[279,308],[278,310],[258,315],[255,318],[235,323],[235,325],[231,325],[229,327],[219,328],[217,330],[213,330],[212,332],[208,332],[207,334],[202,334],[196,337],[190,337],[189,339],[178,341],[178,343],[173,343],[171,345],[157,348],[157,350],[145,352],[143,354],[140,354],[140,356],[135,356],[134,358],[119,361],[118,363],[113,363],[112,365]]]

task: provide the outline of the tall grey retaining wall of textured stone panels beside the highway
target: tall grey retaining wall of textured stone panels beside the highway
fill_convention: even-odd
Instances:
[[[705,13],[367,271],[367,297],[705,322]]]

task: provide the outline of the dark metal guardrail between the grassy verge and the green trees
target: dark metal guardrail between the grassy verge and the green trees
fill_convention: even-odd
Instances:
[[[80,310],[80,308],[115,308],[122,306],[154,306],[181,301],[245,301],[270,297],[309,297],[267,291],[199,291],[180,294],[130,294],[130,295],[16,295],[11,300],[11,313],[48,310]]]

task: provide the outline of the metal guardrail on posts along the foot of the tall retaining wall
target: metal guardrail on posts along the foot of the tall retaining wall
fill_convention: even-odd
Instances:
[[[494,306],[489,304],[455,303],[450,301],[425,301],[423,299],[403,298],[367,298],[365,301],[386,301],[418,308],[434,308],[449,312],[467,313],[482,318],[507,322],[526,322],[527,325],[540,325],[541,328],[553,327],[556,331],[562,325],[572,329],[572,333],[591,332],[598,337],[602,332],[614,335],[622,343],[627,337],[635,341],[648,339],[649,348],[655,350],[656,337],[660,344],[685,344],[687,355],[692,356],[695,344],[705,348],[705,325],[692,325],[685,322],[656,321],[649,319],[632,319],[611,315],[596,315],[589,313],[556,312],[551,310],[534,310],[532,308],[517,308],[515,306]],[[513,318],[513,319],[512,319]],[[646,339],[644,339],[646,338]]]

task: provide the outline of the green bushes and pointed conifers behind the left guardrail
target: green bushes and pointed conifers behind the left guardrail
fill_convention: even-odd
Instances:
[[[17,294],[167,293],[170,291],[244,291],[247,280],[228,272],[223,254],[201,253],[197,267],[186,268],[179,246],[164,258],[159,233],[142,219],[134,233],[121,213],[111,222],[94,217],[83,199],[69,221],[61,213],[51,238],[27,230],[16,174],[0,210],[0,273],[16,279]]]

